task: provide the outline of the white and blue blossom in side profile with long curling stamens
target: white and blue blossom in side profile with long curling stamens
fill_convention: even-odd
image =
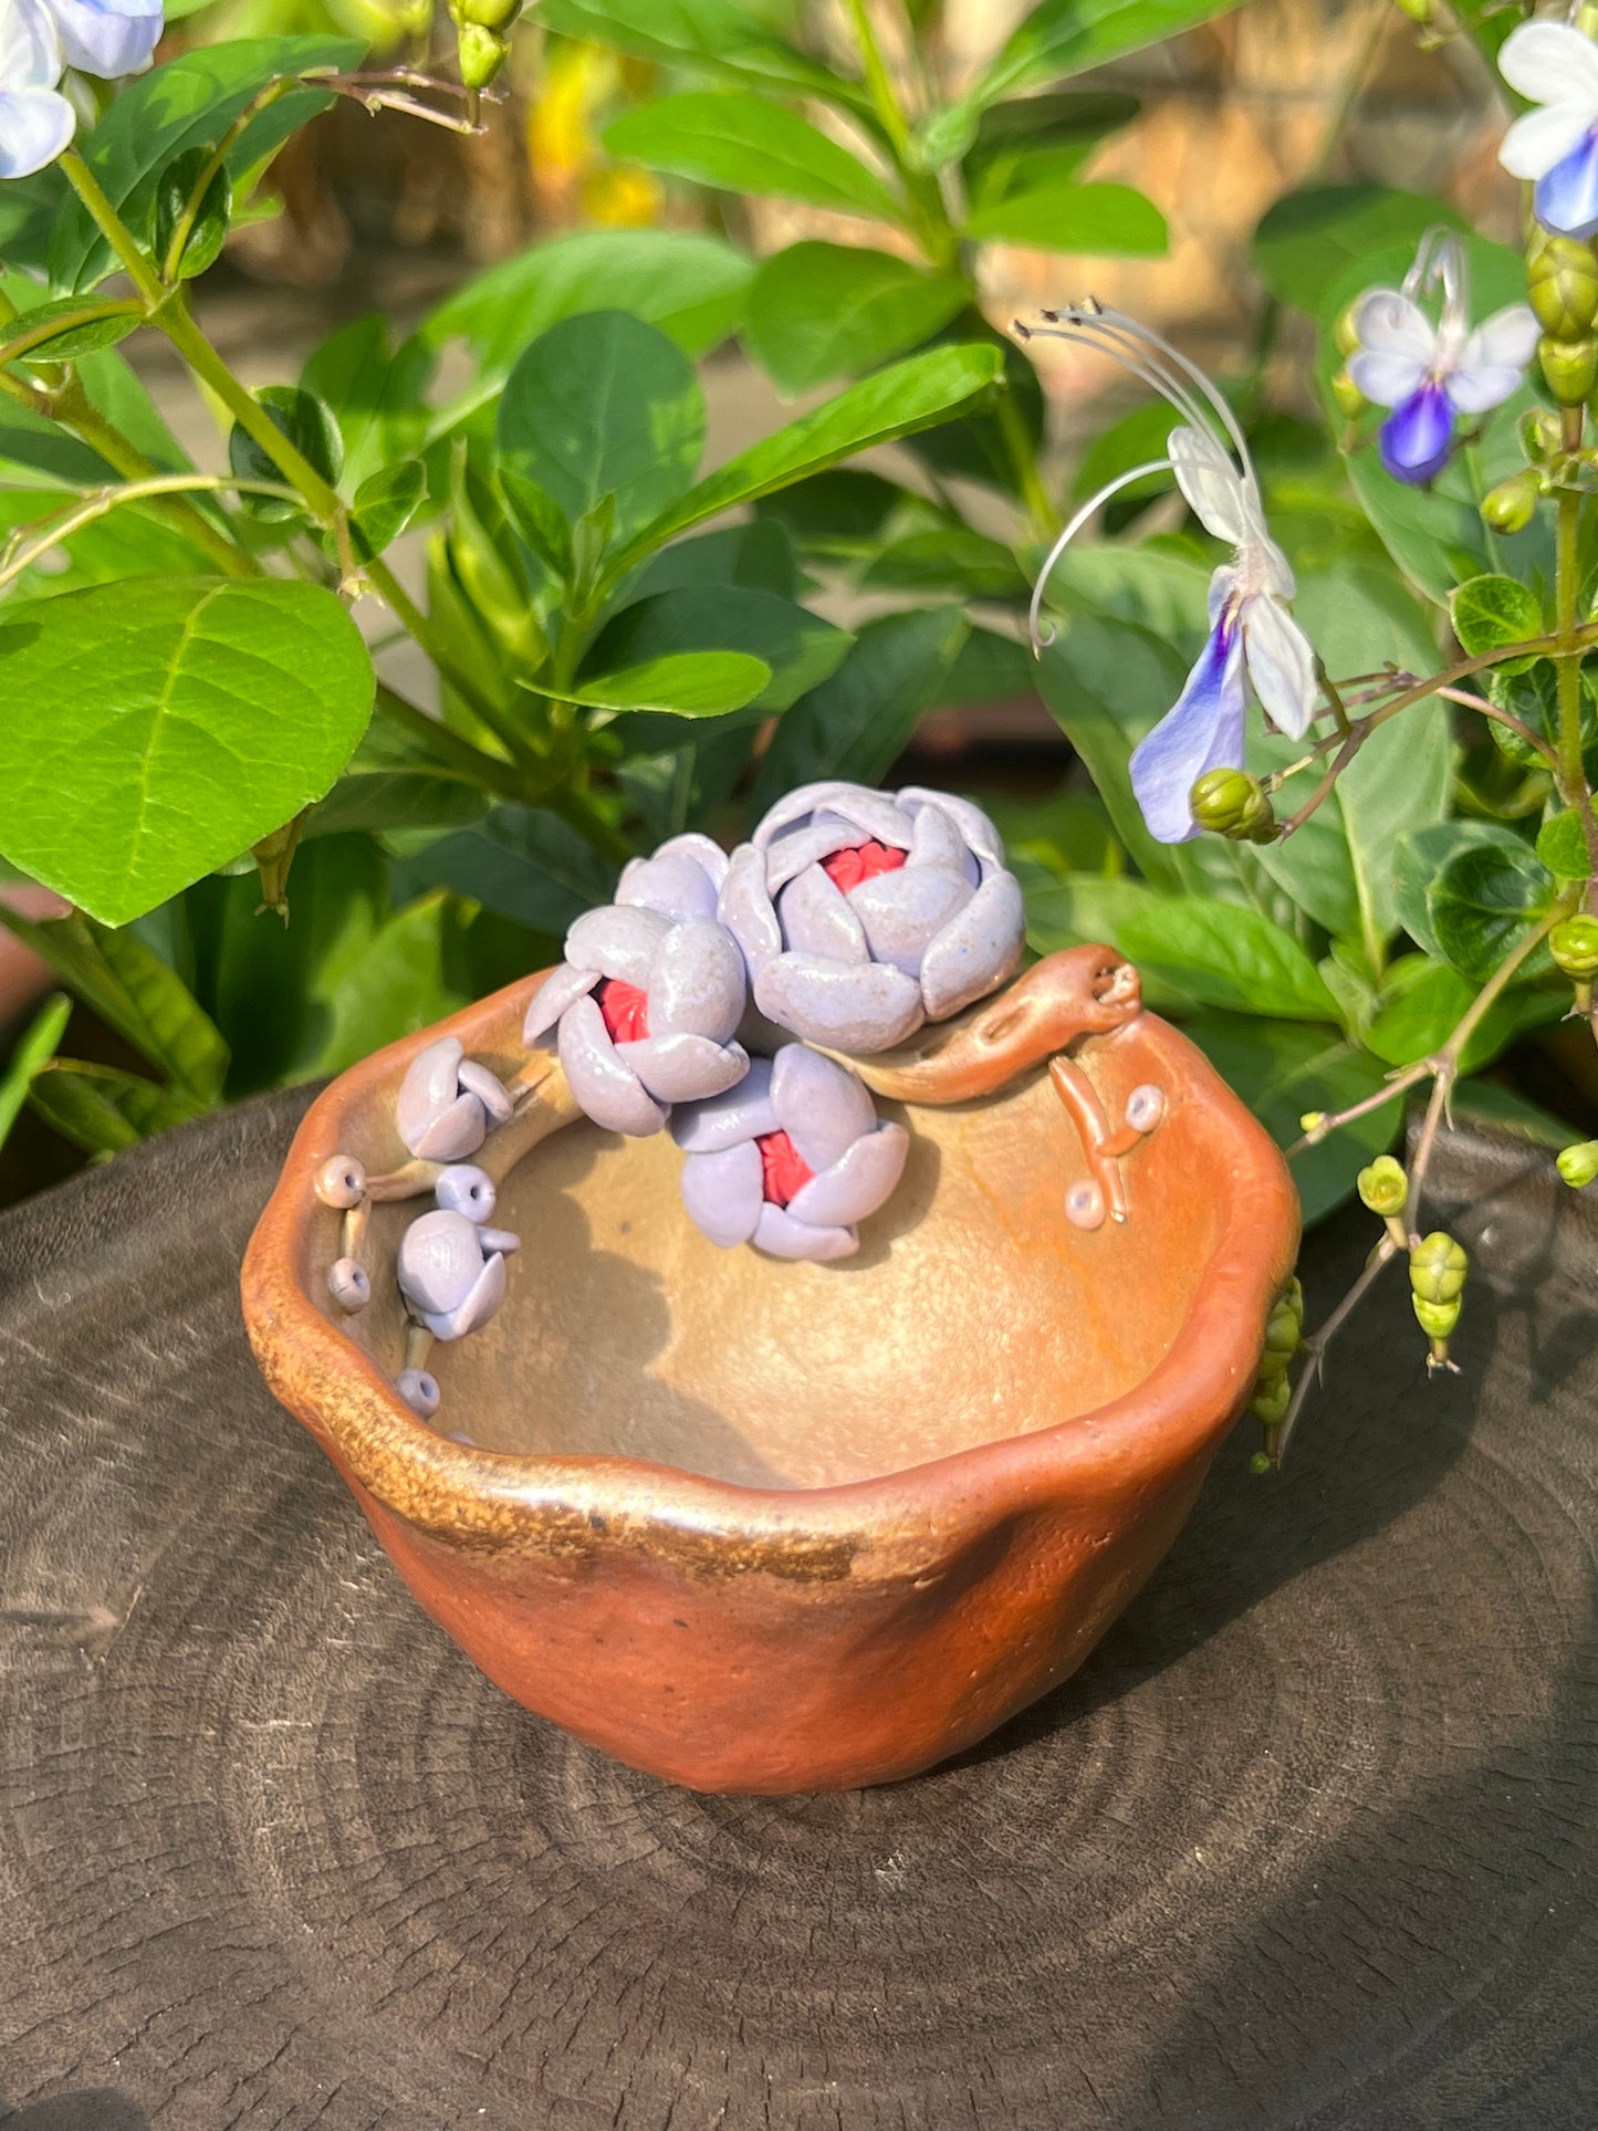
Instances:
[[[1185,844],[1197,825],[1193,784],[1210,769],[1242,769],[1249,688],[1272,725],[1295,739],[1315,718],[1315,650],[1289,614],[1293,571],[1270,537],[1249,445],[1236,416],[1208,377],[1157,332],[1102,305],[1044,311],[1048,326],[1016,326],[1023,337],[1076,341],[1112,356],[1168,401],[1180,422],[1168,456],[1134,467],[1076,511],[1055,541],[1031,597],[1031,644],[1055,560],[1116,490],[1148,473],[1172,473],[1206,533],[1232,548],[1210,578],[1210,635],[1176,703],[1131,752],[1131,788],[1151,835]]]

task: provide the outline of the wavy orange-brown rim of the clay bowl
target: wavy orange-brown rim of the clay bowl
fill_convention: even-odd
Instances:
[[[999,1517],[1061,1498],[1136,1498],[1221,1443],[1253,1389],[1266,1319],[1293,1268],[1298,1193],[1274,1140],[1204,1053],[1146,1010],[1089,1046],[1136,1042],[1157,1059],[1161,1085],[1180,1083],[1219,1112],[1229,1134],[1227,1221],[1168,1353],[1119,1398],[897,1473],[786,1490],[612,1451],[490,1451],[433,1430],[296,1276],[303,1223],[322,1210],[313,1176],[339,1153],[330,1127],[349,1104],[396,1085],[439,1036],[458,1036],[469,1055],[503,1053],[507,1036],[516,1044],[545,976],[520,978],[339,1074],[305,1112],[249,1238],[241,1300],[260,1370],[362,1496],[479,1553],[629,1545],[695,1573],[886,1581],[925,1566],[931,1532],[946,1556]]]

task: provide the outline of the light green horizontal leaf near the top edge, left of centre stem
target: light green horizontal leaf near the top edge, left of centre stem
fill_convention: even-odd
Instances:
[[[808,200],[844,215],[901,222],[903,207],[876,170],[808,119],[744,90],[663,96],[605,128],[605,147],[646,170],[724,192]]]

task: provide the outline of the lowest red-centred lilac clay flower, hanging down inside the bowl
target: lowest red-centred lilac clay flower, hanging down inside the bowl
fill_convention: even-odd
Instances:
[[[852,1072],[784,1044],[714,1102],[680,1110],[671,1136],[688,1155],[682,1200],[712,1242],[752,1242],[771,1257],[848,1257],[857,1221],[903,1174],[910,1134],[878,1123]]]

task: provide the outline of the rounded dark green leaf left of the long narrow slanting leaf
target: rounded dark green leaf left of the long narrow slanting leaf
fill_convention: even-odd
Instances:
[[[682,349],[626,311],[567,318],[526,349],[499,403],[499,452],[575,524],[616,497],[622,535],[669,509],[705,450],[705,396]]]

